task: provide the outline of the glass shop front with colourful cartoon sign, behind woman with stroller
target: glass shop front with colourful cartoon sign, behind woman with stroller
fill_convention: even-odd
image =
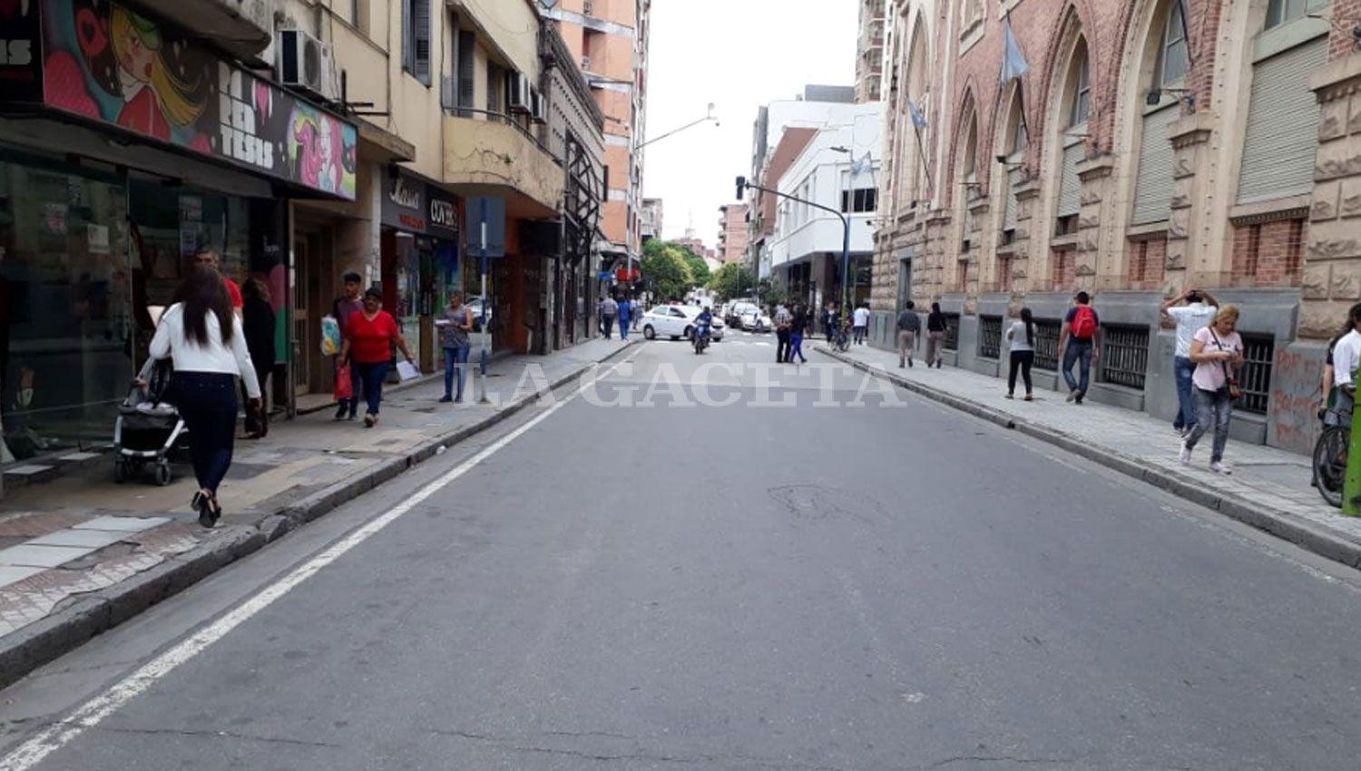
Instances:
[[[195,252],[212,249],[225,275],[259,279],[284,309],[286,199],[354,197],[355,128],[116,3],[0,10],[0,39],[29,52],[0,61],[10,462],[110,441]],[[276,329],[284,358],[284,313]]]

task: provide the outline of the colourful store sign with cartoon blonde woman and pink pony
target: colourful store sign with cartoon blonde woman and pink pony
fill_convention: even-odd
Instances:
[[[354,200],[352,124],[113,0],[0,0],[0,18],[30,3],[44,42],[33,101]]]

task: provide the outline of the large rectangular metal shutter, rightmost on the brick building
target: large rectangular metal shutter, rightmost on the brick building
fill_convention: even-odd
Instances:
[[[1313,190],[1319,102],[1309,75],[1327,61],[1328,37],[1323,35],[1252,67],[1240,204]]]

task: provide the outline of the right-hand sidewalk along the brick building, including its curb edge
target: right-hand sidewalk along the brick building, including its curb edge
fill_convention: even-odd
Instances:
[[[875,370],[897,385],[985,420],[1015,428],[1094,460],[1173,495],[1259,528],[1328,559],[1361,567],[1361,518],[1342,513],[1309,485],[1309,458],[1229,441],[1232,476],[1207,468],[1210,436],[1196,447],[1191,466],[1177,461],[1180,441],[1172,426],[1142,412],[1064,401],[1066,394],[1037,390],[1036,401],[1006,398],[1004,379],[954,367],[898,369],[896,352],[856,345],[838,354],[818,351],[862,370]],[[1017,383],[1018,392],[1022,390]],[[1019,394],[1018,394],[1019,396]]]

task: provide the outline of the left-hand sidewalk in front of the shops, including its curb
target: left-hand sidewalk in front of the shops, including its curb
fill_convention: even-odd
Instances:
[[[407,468],[509,417],[532,401],[517,390],[527,364],[557,388],[627,345],[591,340],[548,356],[493,362],[494,405],[440,404],[444,378],[385,393],[382,422],[336,422],[321,409],[238,441],[214,530],[189,510],[186,462],[158,487],[150,473],[114,484],[108,464],[80,466],[46,484],[7,491],[0,503],[0,687],[174,594],[227,563],[362,495]],[[475,367],[474,367],[475,370]],[[362,407],[362,405],[361,405]],[[362,412],[362,409],[361,409]],[[150,472],[150,468],[147,469]]]

